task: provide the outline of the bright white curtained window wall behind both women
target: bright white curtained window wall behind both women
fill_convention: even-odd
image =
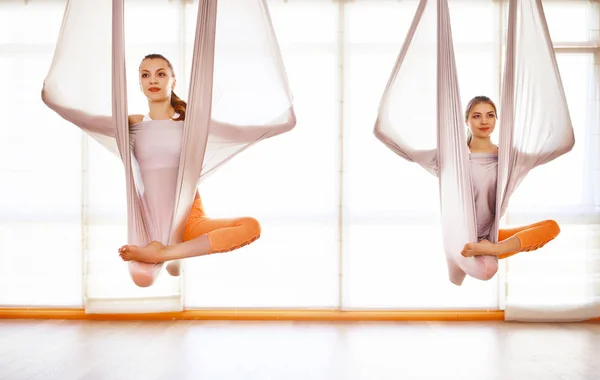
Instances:
[[[116,253],[126,236],[122,164],[40,99],[64,4],[0,2],[0,72],[10,89],[0,92],[0,305],[81,307],[85,297],[96,312],[180,302],[188,309],[502,309],[506,292],[507,317],[516,319],[521,311],[593,305],[600,269],[600,157],[593,154],[600,146],[598,40],[590,33],[598,28],[597,3],[544,1],[553,40],[571,46],[558,50],[558,61],[577,143],[534,170],[512,198],[508,225],[554,218],[562,233],[509,259],[506,283],[503,273],[462,287],[448,282],[435,178],[372,135],[417,1],[269,0],[298,125],[242,153],[200,188],[211,217],[254,216],[262,236],[238,251],[187,260],[181,284],[162,273],[145,289],[132,284]],[[461,89],[499,99],[502,2],[450,5]],[[126,8],[132,113],[146,108],[132,75],[145,54],[169,57],[177,93],[187,94],[196,6],[153,0]],[[163,26],[139,35],[135,22],[150,14],[160,14]],[[480,32],[469,33],[473,27]],[[61,149],[50,150],[45,140],[58,134]],[[385,172],[370,170],[381,162]],[[249,170],[257,166],[263,170]],[[284,191],[263,191],[271,186]]]

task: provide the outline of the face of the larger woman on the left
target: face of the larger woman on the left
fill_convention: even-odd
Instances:
[[[150,101],[171,99],[175,78],[163,59],[144,59],[140,65],[140,88]]]

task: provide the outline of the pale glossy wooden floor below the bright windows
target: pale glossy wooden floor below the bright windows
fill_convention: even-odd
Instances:
[[[0,320],[2,380],[600,379],[600,323]]]

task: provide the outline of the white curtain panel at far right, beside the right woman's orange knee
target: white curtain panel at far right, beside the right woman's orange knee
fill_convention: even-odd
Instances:
[[[532,171],[512,198],[508,225],[553,218],[561,233],[539,251],[508,259],[507,320],[600,316],[599,7],[544,2],[576,142],[569,154]]]

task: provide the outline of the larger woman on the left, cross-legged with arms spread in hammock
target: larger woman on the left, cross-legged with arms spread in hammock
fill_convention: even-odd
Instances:
[[[180,259],[228,252],[248,245],[260,237],[260,224],[249,217],[209,219],[196,192],[183,242],[163,244],[170,236],[187,104],[173,92],[175,73],[164,56],[150,54],[144,57],[139,67],[139,80],[148,99],[149,113],[129,116],[130,143],[143,183],[142,206],[150,215],[148,223],[153,226],[152,230],[158,232],[157,236],[151,236],[153,241],[145,247],[124,245],[119,248],[119,255],[130,262],[133,281],[144,287],[152,285],[163,262],[170,261],[167,271],[177,276]],[[43,93],[42,97],[50,108],[86,131],[109,137],[116,135],[110,118],[63,109],[45,95]],[[240,127],[212,120],[210,132],[226,141],[254,142],[291,130],[296,124],[295,115],[292,109],[286,114],[287,121],[275,126]]]

